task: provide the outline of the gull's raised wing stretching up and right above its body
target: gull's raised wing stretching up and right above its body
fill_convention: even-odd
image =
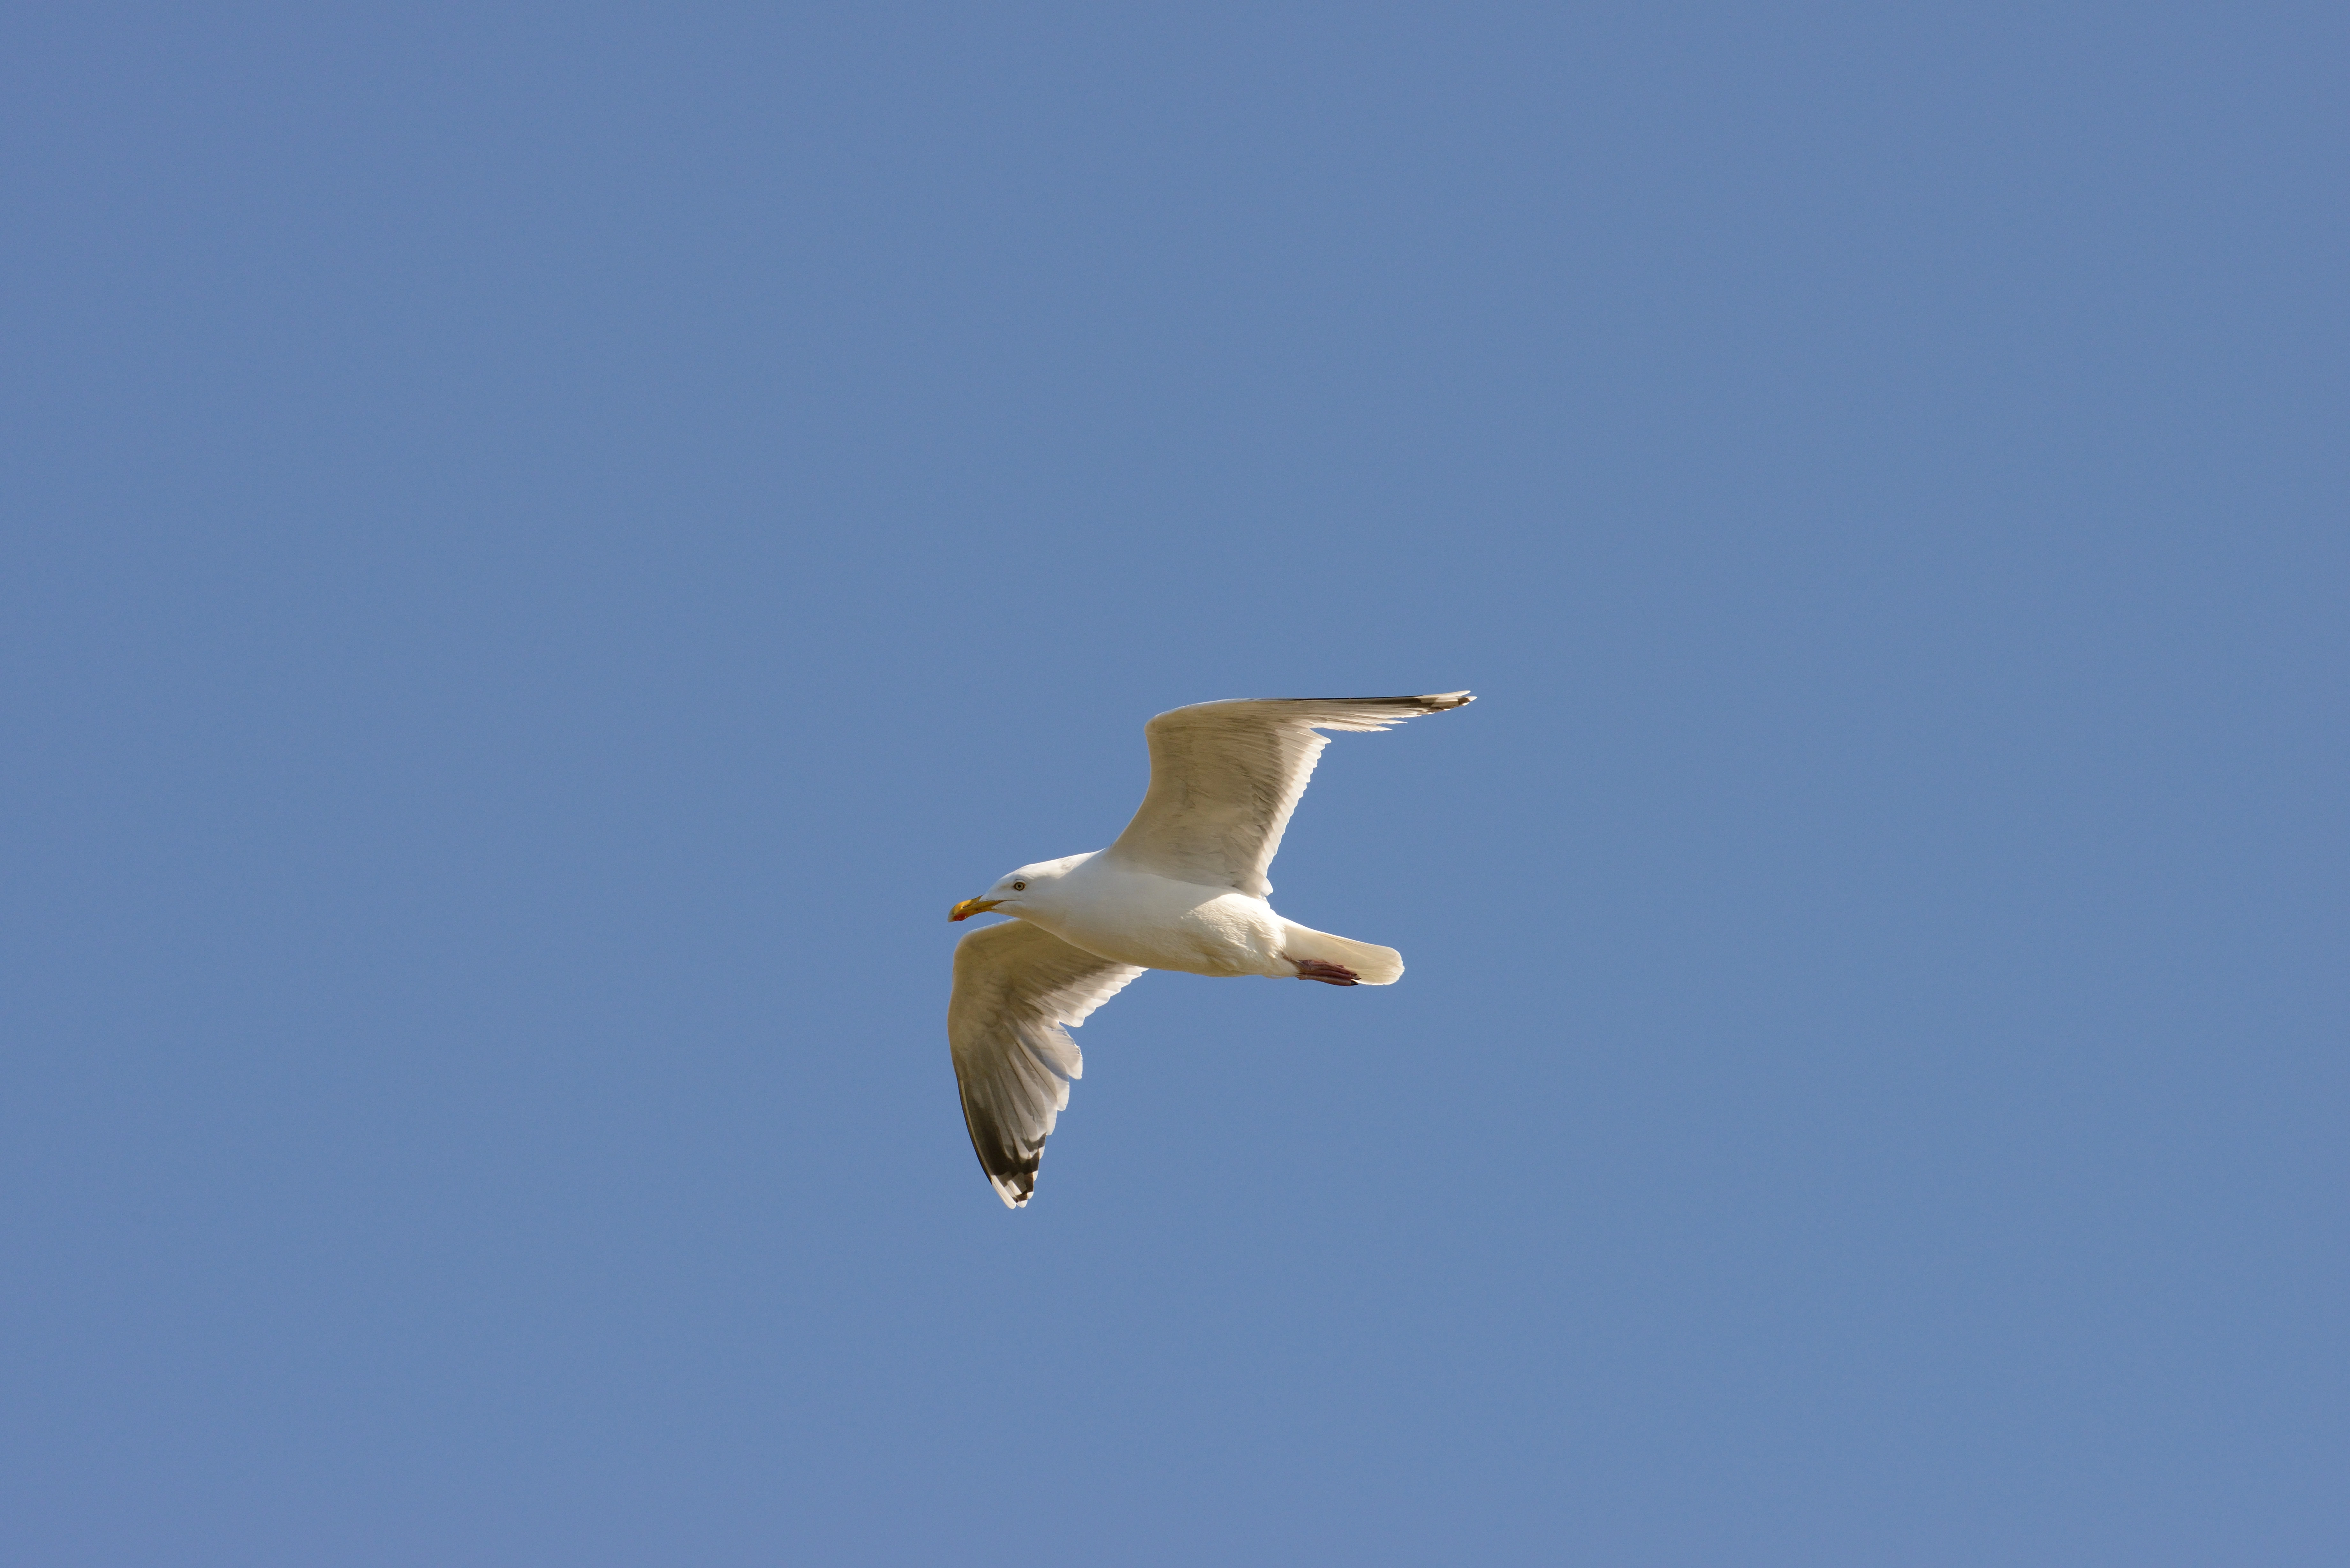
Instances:
[[[1386,729],[1473,701],[1466,691],[1304,696],[1163,712],[1144,726],[1149,795],[1109,853],[1161,877],[1264,898],[1274,891],[1264,870],[1307,792],[1314,759],[1330,745],[1316,731]]]

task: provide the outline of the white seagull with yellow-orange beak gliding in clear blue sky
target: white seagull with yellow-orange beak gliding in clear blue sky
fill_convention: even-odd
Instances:
[[[1403,954],[1274,912],[1264,867],[1325,729],[1375,731],[1464,708],[1466,691],[1194,703],[1152,719],[1152,788],[1119,842],[1008,872],[947,919],[996,912],[954,945],[947,1041],[964,1126],[1006,1208],[1036,1192],[1043,1140],[1086,1058],[1069,1030],[1144,969],[1394,985]]]

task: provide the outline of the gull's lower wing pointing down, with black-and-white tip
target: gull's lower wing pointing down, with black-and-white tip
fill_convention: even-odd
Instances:
[[[1013,919],[954,945],[947,1041],[964,1091],[964,1126],[1008,1208],[1036,1190],[1036,1161],[1086,1058],[1062,1025],[1086,1023],[1142,971],[1072,947]]]

